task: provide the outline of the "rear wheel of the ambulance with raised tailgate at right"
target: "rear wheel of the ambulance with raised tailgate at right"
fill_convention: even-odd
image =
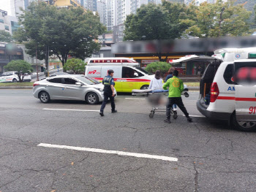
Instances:
[[[256,130],[256,122],[250,121],[238,121],[236,120],[236,112],[233,112],[231,117],[231,123],[233,128],[236,128],[240,131],[255,131]]]

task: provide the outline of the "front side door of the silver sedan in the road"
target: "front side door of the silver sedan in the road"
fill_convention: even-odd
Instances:
[[[74,99],[83,100],[84,99],[84,89],[82,85],[75,85],[75,82],[79,82],[72,77],[66,77],[64,79],[64,99]]]

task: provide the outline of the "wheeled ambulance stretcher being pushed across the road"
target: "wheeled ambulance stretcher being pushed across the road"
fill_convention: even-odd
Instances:
[[[184,95],[186,97],[189,97],[189,93],[187,93],[189,89],[186,85],[184,85],[184,91],[181,93],[181,95]],[[166,112],[166,104],[167,104],[167,96],[168,96],[169,90],[164,90],[162,88],[157,89],[134,89],[132,90],[133,96],[148,96],[148,101],[152,105],[151,112],[149,113],[149,118],[154,117],[155,112]],[[177,112],[171,110],[170,115],[173,115],[173,118],[178,118]]]

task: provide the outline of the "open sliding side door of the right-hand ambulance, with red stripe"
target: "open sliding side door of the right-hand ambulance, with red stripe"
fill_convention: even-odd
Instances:
[[[256,121],[256,62],[235,63],[236,120]]]

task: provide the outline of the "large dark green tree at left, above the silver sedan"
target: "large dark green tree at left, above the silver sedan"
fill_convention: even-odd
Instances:
[[[57,55],[63,66],[68,55],[84,59],[99,50],[94,39],[105,31],[99,17],[90,11],[58,9],[44,2],[32,2],[19,20],[23,28],[15,37],[25,42],[27,53],[34,56],[37,45],[37,55]]]

